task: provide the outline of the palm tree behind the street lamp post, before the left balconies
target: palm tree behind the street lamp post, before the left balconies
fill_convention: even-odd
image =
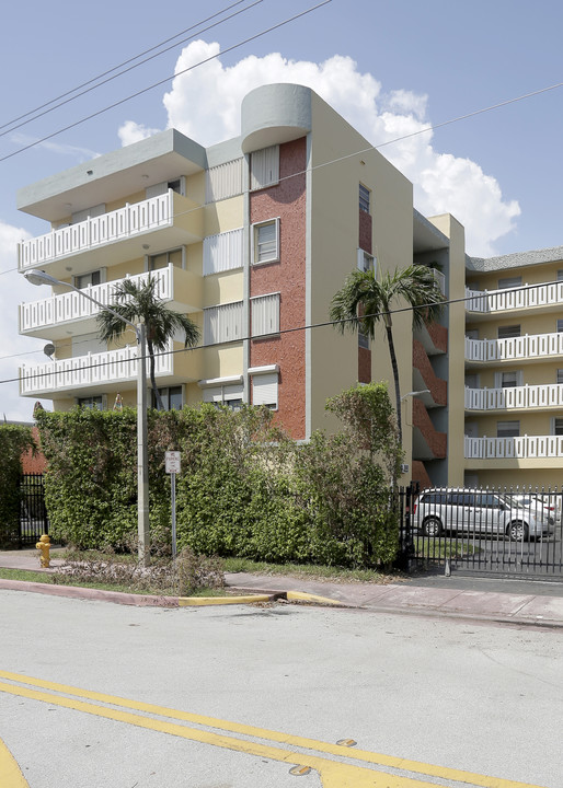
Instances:
[[[186,315],[165,306],[164,302],[156,293],[157,283],[158,279],[151,276],[145,283],[136,283],[131,279],[124,279],[115,286],[115,303],[110,306],[130,323],[135,323],[139,318],[145,322],[150,382],[157,407],[163,410],[164,406],[154,375],[154,351],[165,350],[169,340],[176,331],[184,334],[184,347],[194,347],[199,341],[199,328]],[[126,323],[107,310],[102,310],[96,321],[97,334],[102,341],[118,339],[128,327]]]

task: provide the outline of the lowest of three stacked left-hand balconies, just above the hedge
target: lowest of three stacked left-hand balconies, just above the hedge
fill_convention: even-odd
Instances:
[[[169,348],[156,355],[156,376],[159,385],[177,385],[202,378],[200,350],[171,352],[183,348],[170,343]],[[147,361],[147,374],[148,374]],[[107,391],[128,391],[137,384],[137,346],[118,350],[85,354],[41,364],[22,364],[20,395],[45,398],[89,396]]]

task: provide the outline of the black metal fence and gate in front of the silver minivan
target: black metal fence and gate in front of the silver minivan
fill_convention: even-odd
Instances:
[[[563,577],[563,490],[411,486],[400,506],[410,571]]]

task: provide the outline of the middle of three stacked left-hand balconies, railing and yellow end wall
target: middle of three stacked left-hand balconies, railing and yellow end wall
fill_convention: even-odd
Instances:
[[[202,277],[174,267],[159,268],[150,274],[128,277],[130,281],[141,285],[149,276],[158,280],[157,296],[176,312],[198,312],[203,306]],[[124,281],[115,280],[84,288],[84,293],[100,301],[104,306],[114,301],[115,287]],[[71,333],[88,334],[96,331],[95,317],[100,308],[83,298],[76,290],[50,296],[41,301],[20,304],[20,334],[60,339]],[[72,324],[80,322],[80,328],[72,332]]]

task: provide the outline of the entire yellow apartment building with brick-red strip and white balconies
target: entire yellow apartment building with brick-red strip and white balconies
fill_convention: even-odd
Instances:
[[[50,222],[47,233],[20,245],[22,273],[43,269],[104,304],[116,281],[152,275],[161,298],[199,325],[199,348],[184,351],[172,341],[177,352],[158,359],[166,407],[266,405],[300,440],[334,428],[328,397],[356,381],[392,381],[383,329],[370,346],[328,324],[346,275],[358,266],[377,274],[412,262],[430,266],[451,301],[440,323],[413,335],[407,311],[393,316],[409,477],[423,484],[514,482],[518,467],[522,483],[545,479],[539,470],[528,476],[533,463],[520,454],[532,451],[533,441],[521,448],[515,422],[519,436],[544,436],[537,445],[559,450],[547,438],[560,429],[556,407],[539,405],[559,392],[559,378],[543,380],[559,374],[556,360],[551,371],[544,359],[539,363],[536,348],[543,339],[533,345],[533,358],[527,350],[521,363],[506,366],[505,359],[516,352],[508,349],[517,344],[516,325],[524,337],[528,321],[530,332],[533,325],[536,335],[548,332],[545,341],[555,343],[548,323],[550,314],[556,320],[563,281],[548,288],[553,309],[527,301],[510,306],[517,315],[506,308],[502,315],[497,304],[508,303],[502,300],[508,291],[468,291],[464,302],[466,288],[505,287],[493,271],[510,268],[512,275],[513,263],[468,258],[463,228],[450,216],[426,219],[415,211],[412,184],[310,89],[275,84],[250,93],[235,139],[204,148],[169,129],[23,188],[18,202]],[[556,278],[554,258],[531,257],[518,257],[515,276],[533,262],[533,270],[543,266]],[[95,314],[92,302],[62,287],[21,304],[20,332],[55,346],[49,361],[22,367],[22,395],[51,398],[55,409],[112,407],[117,394],[135,405],[134,333],[101,347]],[[513,334],[494,334],[497,324]],[[538,393],[527,393],[525,405],[521,391],[532,385],[532,371]],[[542,408],[540,427],[536,412]]]

